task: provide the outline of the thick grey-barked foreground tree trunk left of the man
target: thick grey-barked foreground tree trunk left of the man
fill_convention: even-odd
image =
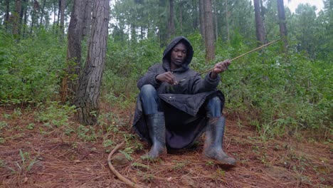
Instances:
[[[83,125],[94,125],[99,115],[100,86],[105,66],[107,30],[110,14],[110,0],[95,0],[93,24],[89,41],[88,58],[80,77],[75,105],[78,120]]]

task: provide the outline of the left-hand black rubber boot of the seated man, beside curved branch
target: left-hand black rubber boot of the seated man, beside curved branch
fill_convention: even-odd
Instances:
[[[152,140],[152,147],[146,155],[142,156],[142,158],[156,159],[160,155],[166,154],[166,130],[164,113],[154,113],[147,115],[147,125],[149,130],[149,137]]]

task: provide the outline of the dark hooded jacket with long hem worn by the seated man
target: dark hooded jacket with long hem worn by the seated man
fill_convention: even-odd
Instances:
[[[178,43],[184,43],[187,48],[186,59],[181,67],[171,71],[171,51]],[[162,101],[162,108],[166,122],[166,146],[174,149],[188,147],[201,135],[206,127],[206,109],[203,105],[209,98],[218,96],[223,109],[224,97],[216,87],[220,77],[210,78],[208,73],[205,78],[189,68],[194,51],[191,43],[184,36],[174,38],[166,46],[162,63],[151,66],[147,73],[139,78],[137,87],[141,90],[143,85],[150,84],[156,88]],[[155,78],[161,73],[170,71],[177,81],[186,80],[176,84],[161,83]],[[134,114],[133,128],[142,139],[150,142],[147,122],[142,113],[142,101],[137,98],[137,107]]]

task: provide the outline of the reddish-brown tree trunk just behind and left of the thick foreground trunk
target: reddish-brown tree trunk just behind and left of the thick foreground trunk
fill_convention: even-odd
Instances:
[[[74,0],[73,11],[70,15],[68,27],[68,48],[67,48],[67,73],[63,77],[61,85],[61,101],[64,103],[68,98],[73,99],[78,90],[78,79],[80,78],[81,67],[81,37],[83,31],[83,14],[85,1]]]

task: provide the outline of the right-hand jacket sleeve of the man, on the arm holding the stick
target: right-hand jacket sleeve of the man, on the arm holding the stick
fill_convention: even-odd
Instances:
[[[218,75],[216,79],[211,79],[210,75],[211,73],[208,73],[203,79],[199,74],[196,75],[192,85],[192,93],[196,94],[215,90],[218,83],[220,83],[221,78],[220,75]]]

